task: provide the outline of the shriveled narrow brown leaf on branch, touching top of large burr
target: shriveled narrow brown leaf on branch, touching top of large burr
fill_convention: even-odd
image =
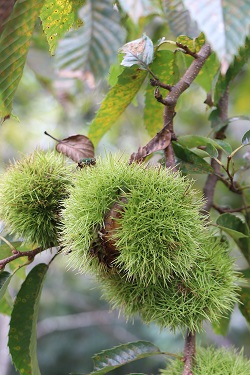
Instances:
[[[134,152],[129,159],[129,164],[133,162],[142,163],[146,156],[152,154],[152,152],[164,150],[168,147],[171,141],[171,133],[167,127],[164,127],[151,141],[144,147],[139,147],[137,152]]]

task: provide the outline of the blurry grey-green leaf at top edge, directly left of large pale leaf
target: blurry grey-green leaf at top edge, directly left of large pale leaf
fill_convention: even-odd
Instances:
[[[195,38],[200,34],[197,23],[191,19],[182,0],[163,0],[162,4],[168,25],[175,36]]]

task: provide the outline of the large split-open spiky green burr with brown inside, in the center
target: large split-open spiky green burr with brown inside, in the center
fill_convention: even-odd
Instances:
[[[201,330],[237,300],[233,261],[210,235],[202,205],[179,173],[99,158],[80,171],[65,202],[68,263],[97,275],[126,316]]]

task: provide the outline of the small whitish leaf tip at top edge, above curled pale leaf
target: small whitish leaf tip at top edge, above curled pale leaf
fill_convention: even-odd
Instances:
[[[141,17],[159,12],[159,9],[150,0],[119,0],[119,4],[135,24]]]

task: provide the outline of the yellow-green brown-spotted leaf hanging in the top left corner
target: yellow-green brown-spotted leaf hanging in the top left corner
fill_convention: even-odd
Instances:
[[[43,0],[19,0],[0,37],[0,118],[9,118]]]

